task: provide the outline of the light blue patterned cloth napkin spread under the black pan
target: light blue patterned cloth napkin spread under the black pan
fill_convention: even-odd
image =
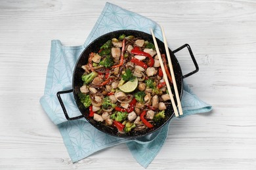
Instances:
[[[150,28],[154,29],[158,39],[162,39],[160,27],[156,22],[111,3],[106,3],[83,45],[63,46],[58,40],[51,42],[51,58],[47,69],[45,93],[41,97],[40,103],[49,118],[58,126],[73,162],[86,158],[98,150],[126,143],[133,157],[146,168],[161,150],[167,138],[171,121],[160,130],[139,139],[113,137],[98,131],[85,118],[67,121],[56,97],[57,92],[72,89],[72,74],[75,63],[81,52],[94,39],[117,29],[136,29],[150,33]],[[81,115],[77,105],[75,105],[73,93],[62,94],[61,97],[70,117]],[[182,117],[211,110],[211,105],[203,102],[192,93],[185,82],[181,104]]]

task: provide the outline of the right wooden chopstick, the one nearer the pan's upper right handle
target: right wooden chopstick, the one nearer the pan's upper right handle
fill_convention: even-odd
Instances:
[[[169,69],[170,69],[170,72],[171,72],[171,77],[173,79],[173,87],[174,87],[175,96],[176,96],[176,100],[177,100],[177,104],[178,104],[178,108],[179,108],[179,114],[182,115],[183,111],[182,111],[182,107],[181,107],[181,100],[180,100],[180,97],[179,97],[179,91],[178,91],[178,88],[177,88],[177,83],[176,83],[176,79],[175,79],[175,75],[174,75],[174,71],[173,71],[173,64],[171,63],[171,56],[170,56],[170,53],[169,53],[169,48],[168,48],[167,40],[166,40],[166,37],[165,37],[165,32],[163,30],[163,26],[161,26],[161,33],[163,33],[163,42],[165,44],[165,52],[166,52],[168,63],[169,63]]]

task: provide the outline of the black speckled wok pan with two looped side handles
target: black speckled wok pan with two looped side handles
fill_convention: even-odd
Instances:
[[[113,32],[106,33],[105,35],[98,37],[97,39],[95,39],[95,41],[91,42],[91,44],[89,44],[87,46],[87,48],[85,48],[85,50],[83,50],[83,52],[81,53],[81,56],[77,60],[77,63],[74,68],[72,90],[65,90],[62,92],[58,92],[57,97],[58,97],[58,100],[60,101],[60,105],[64,111],[64,114],[65,114],[67,120],[76,120],[79,118],[85,118],[92,126],[96,127],[96,129],[98,129],[104,133],[107,133],[108,135],[113,135],[115,137],[136,138],[136,137],[142,137],[144,135],[148,135],[154,131],[157,131],[163,125],[165,125],[167,122],[169,122],[169,120],[171,120],[171,118],[174,115],[173,107],[171,107],[171,105],[168,105],[167,110],[165,110],[165,118],[161,122],[161,124],[156,124],[153,128],[146,129],[145,131],[135,131],[133,133],[120,134],[120,133],[118,133],[116,128],[110,128],[108,126],[105,126],[104,124],[100,124],[99,122],[96,122],[95,120],[93,120],[93,118],[89,117],[88,116],[89,109],[86,109],[83,106],[83,103],[81,103],[81,101],[78,97],[78,93],[80,92],[79,89],[81,86],[83,86],[83,81],[81,80],[81,76],[83,75],[84,70],[81,69],[81,66],[85,65],[88,62],[89,54],[91,52],[97,52],[98,49],[100,49],[100,46],[102,46],[102,44],[104,44],[106,41],[108,41],[112,38],[115,38],[115,37],[119,37],[119,35],[122,35],[122,34],[134,35],[135,37],[140,37],[149,42],[153,42],[152,35],[150,35],[148,33],[141,32],[141,31],[135,31],[135,30],[113,31]],[[159,48],[161,49],[161,54],[165,54],[165,48],[164,48],[163,42],[161,42],[159,39],[157,39],[157,42],[158,42]],[[186,75],[182,75],[181,66],[179,65],[179,61],[177,60],[177,58],[174,55],[175,52],[178,52],[179,50],[181,50],[184,47],[188,48],[188,51],[190,52],[190,56],[192,58],[192,61],[194,62],[194,65],[196,67],[196,69],[194,71],[192,71],[191,73],[188,73]],[[174,51],[171,51],[169,49],[169,53],[171,55],[171,60],[173,63],[173,70],[174,70],[175,78],[176,78],[176,82],[177,82],[177,88],[178,88],[179,95],[181,98],[182,90],[183,90],[183,78],[186,78],[187,76],[190,76],[190,75],[193,75],[194,73],[196,73],[198,71],[198,64],[196,63],[196,59],[194,58],[194,55],[192,54],[192,50],[188,44],[184,44],[183,46],[181,46],[180,48],[178,48],[177,50],[174,50]],[[70,93],[70,92],[73,92],[73,94],[74,94],[75,103],[77,104],[77,107],[82,114],[81,116],[70,118],[68,116],[68,113],[66,112],[66,109],[64,107],[64,103],[62,102],[60,94]],[[175,102],[177,103],[177,101],[175,101]]]

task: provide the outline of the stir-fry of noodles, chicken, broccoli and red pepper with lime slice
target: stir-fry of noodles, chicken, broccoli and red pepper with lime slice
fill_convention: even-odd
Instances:
[[[165,54],[140,37],[120,35],[91,52],[79,93],[88,116],[122,134],[162,124],[170,96],[160,57],[172,82]]]

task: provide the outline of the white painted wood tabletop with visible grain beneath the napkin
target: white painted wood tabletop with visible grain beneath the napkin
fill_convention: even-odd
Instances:
[[[125,144],[72,163],[39,98],[52,39],[83,44],[106,1],[0,2],[0,169],[144,169]],[[186,82],[209,114],[175,120],[148,169],[256,169],[256,1],[110,1],[190,44],[200,72]],[[183,72],[193,69],[177,54]]]

